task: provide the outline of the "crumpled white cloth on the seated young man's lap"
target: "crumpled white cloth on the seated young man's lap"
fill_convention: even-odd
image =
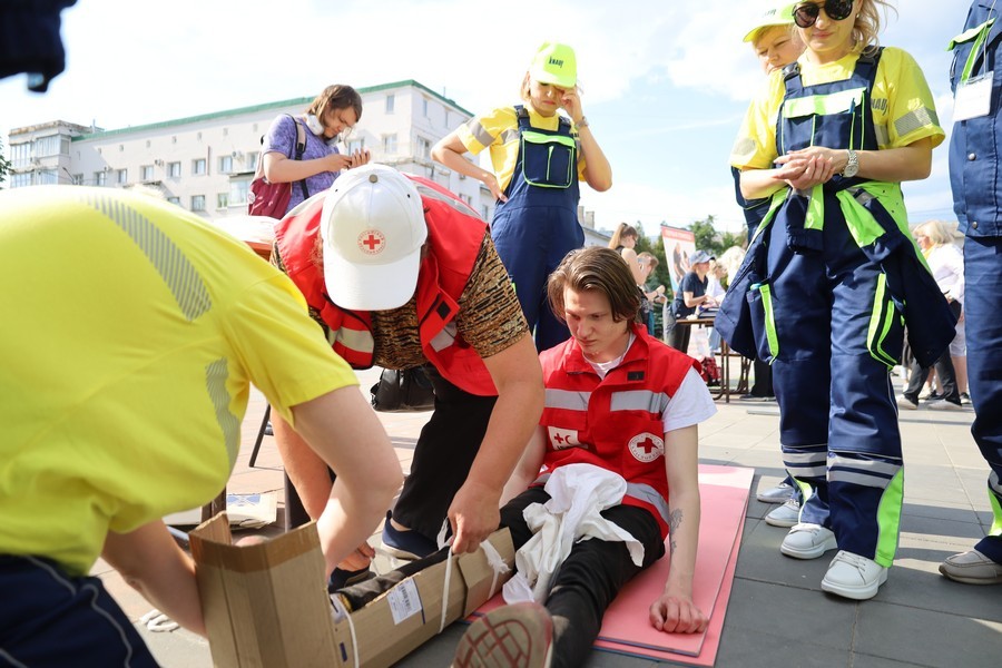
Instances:
[[[515,553],[517,572],[502,589],[505,602],[546,602],[553,573],[579,540],[625,542],[633,563],[644,563],[640,541],[600,514],[622,502],[627,483],[621,475],[593,464],[568,464],[553,471],[544,489],[551,499],[522,512],[533,536]]]

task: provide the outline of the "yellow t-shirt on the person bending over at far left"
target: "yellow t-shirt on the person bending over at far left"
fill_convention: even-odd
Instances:
[[[356,384],[295,285],[181,208],[0,191],[0,554],[86,573],[219,493],[253,382],[273,407]]]

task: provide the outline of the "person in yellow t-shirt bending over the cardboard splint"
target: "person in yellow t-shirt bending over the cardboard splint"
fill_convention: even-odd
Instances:
[[[0,193],[0,312],[4,665],[156,665],[88,577],[99,556],[205,632],[194,564],[160,518],[224,488],[250,383],[341,474],[318,522],[328,572],[399,489],[385,432],[298,289],[177,206]]]

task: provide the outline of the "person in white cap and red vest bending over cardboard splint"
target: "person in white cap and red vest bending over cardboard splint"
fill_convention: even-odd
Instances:
[[[352,366],[424,366],[432,380],[434,412],[383,543],[424,557],[448,517],[454,551],[475,550],[498,528],[502,488],[543,404],[536,348],[487,224],[428,179],[367,165],[277,224],[273,262]],[[306,512],[320,517],[326,468],[281,419],[274,431]],[[364,574],[370,556],[362,546],[341,576]]]

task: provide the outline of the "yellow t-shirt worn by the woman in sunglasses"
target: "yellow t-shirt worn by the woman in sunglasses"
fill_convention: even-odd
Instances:
[[[828,65],[816,66],[800,56],[800,77],[804,86],[831,84],[848,79],[859,59],[858,53]],[[774,71],[766,87],[752,101],[730,154],[730,164],[738,169],[769,169],[778,157],[776,118],[786,92],[783,71]],[[876,80],[871,92],[871,110],[877,145],[881,149],[900,148],[926,137],[933,148],[946,136],[939,125],[935,102],[925,76],[915,59],[906,51],[887,47],[877,65]]]

